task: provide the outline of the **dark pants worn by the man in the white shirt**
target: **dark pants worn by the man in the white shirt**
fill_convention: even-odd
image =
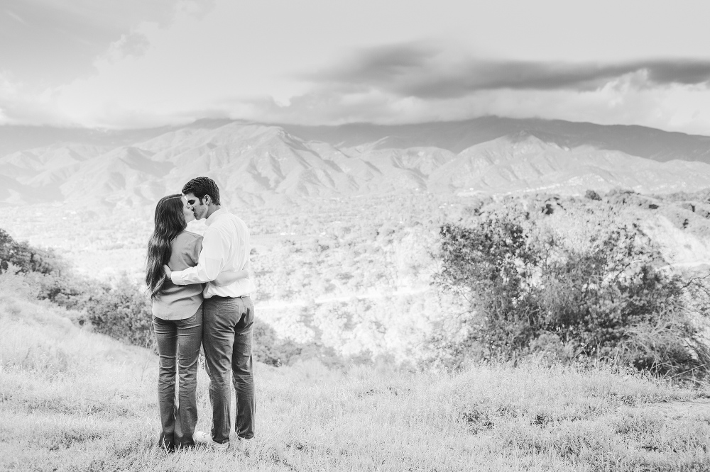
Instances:
[[[251,360],[254,305],[251,298],[205,298],[202,304],[202,346],[209,375],[209,400],[212,403],[212,440],[229,441],[229,373],[234,376],[237,436],[254,437],[256,392]]]

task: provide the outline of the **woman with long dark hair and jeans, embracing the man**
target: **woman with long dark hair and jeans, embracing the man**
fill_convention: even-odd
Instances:
[[[155,230],[148,242],[146,285],[153,300],[153,326],[160,371],[158,407],[162,431],[158,444],[172,451],[194,446],[197,423],[197,355],[202,343],[202,284],[177,286],[165,278],[163,264],[179,271],[197,265],[202,236],[185,230],[194,220],[192,208],[180,194],[160,198],[155,207]],[[248,276],[248,271],[219,274],[217,286]],[[175,364],[180,388],[175,405]]]

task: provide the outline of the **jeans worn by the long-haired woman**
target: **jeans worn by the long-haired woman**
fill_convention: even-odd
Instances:
[[[185,320],[153,318],[160,354],[158,407],[163,431],[158,444],[167,449],[194,446],[197,424],[197,354],[202,342],[202,307]],[[175,364],[180,386],[175,401]]]

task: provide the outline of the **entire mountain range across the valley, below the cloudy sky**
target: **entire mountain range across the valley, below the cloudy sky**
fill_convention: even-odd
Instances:
[[[394,191],[452,194],[710,187],[710,137],[483,117],[414,125],[198,120],[97,131],[0,127],[0,201],[134,206],[214,178],[253,205]]]

